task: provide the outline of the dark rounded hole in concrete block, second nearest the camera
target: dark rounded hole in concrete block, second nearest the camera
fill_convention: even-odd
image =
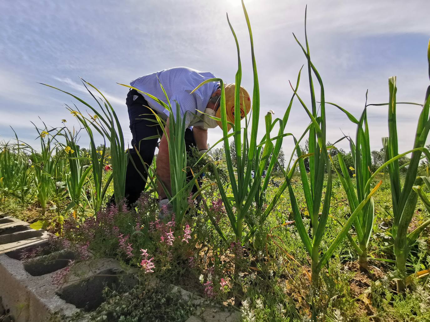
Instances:
[[[28,261],[24,264],[24,269],[32,276],[41,276],[66,267],[69,260],[76,258],[76,254],[70,250],[54,252]]]

